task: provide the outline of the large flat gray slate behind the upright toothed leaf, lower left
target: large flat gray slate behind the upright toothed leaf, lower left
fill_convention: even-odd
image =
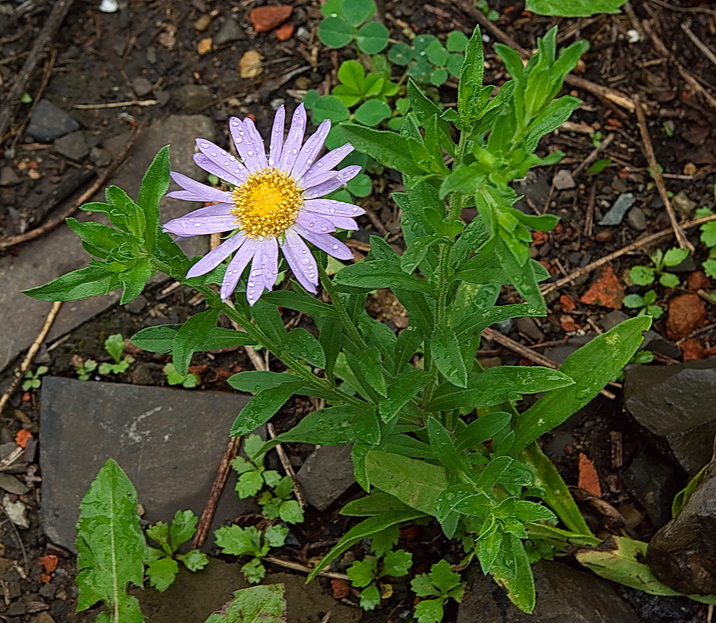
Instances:
[[[74,550],[80,502],[109,457],[137,488],[145,520],[170,521],[179,509],[201,515],[229,428],[247,402],[241,394],[43,378],[44,533]],[[252,508],[234,484],[232,473],[213,529]]]

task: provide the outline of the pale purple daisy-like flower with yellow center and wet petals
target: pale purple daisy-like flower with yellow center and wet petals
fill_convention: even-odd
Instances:
[[[281,106],[274,117],[268,155],[249,118],[229,120],[241,161],[214,143],[197,139],[199,153],[194,154],[194,162],[228,182],[233,190],[219,190],[181,173],[171,174],[183,190],[170,192],[169,197],[216,203],[169,221],[164,231],[182,238],[231,232],[187,273],[187,277],[208,273],[233,254],[221,285],[224,300],[236,289],[249,263],[249,304],[253,305],[264,290],[271,290],[278,276],[279,248],[298,282],[314,294],[318,269],[305,241],[340,260],[353,257],[350,249],[331,234],[337,228],[358,229],[354,219],[364,210],[351,203],[321,198],[360,173],[359,166],[340,171],[334,168],[353,151],[353,146],[346,143],[317,159],[331,129],[330,121],[324,121],[304,143],[303,104],[296,109],[284,140],[285,116]]]

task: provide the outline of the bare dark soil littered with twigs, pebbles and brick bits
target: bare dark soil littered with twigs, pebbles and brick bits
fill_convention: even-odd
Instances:
[[[296,31],[285,42],[279,42],[273,33],[257,35],[253,32],[247,15],[255,5],[263,4],[261,1],[132,0],[125,2],[123,8],[114,14],[100,13],[98,4],[79,0],[74,3],[63,28],[52,42],[52,54],[47,58],[53,60],[46,61],[44,68],[35,72],[26,89],[35,100],[42,95],[71,111],[81,122],[89,146],[102,146],[107,139],[138,124],[171,113],[187,112],[177,93],[180,87],[192,84],[208,87],[214,96],[213,102],[200,105],[191,112],[203,112],[214,119],[218,143],[228,141],[226,121],[231,115],[252,114],[259,128],[265,131],[279,100],[285,101],[291,109],[307,88],[326,92],[334,84],[341,60],[347,58],[345,52],[329,51],[318,42],[318,2],[299,0],[293,3],[294,12],[290,21]],[[379,4],[383,5],[382,17],[396,39],[404,36],[402,31],[405,29],[416,34],[431,32],[442,35],[455,28],[469,32],[474,23],[468,1],[440,0],[435,4],[422,4],[408,0],[385,0]],[[533,49],[535,38],[558,21],[524,12],[521,2],[491,1],[490,5],[500,14],[496,22],[499,28],[527,49]],[[0,48],[3,51],[0,81],[6,87],[18,74],[50,9],[50,3],[35,3],[32,4],[34,8],[31,7],[25,14],[5,17],[19,10],[19,6],[13,2],[0,2]],[[197,48],[200,41],[215,37],[222,22],[229,17],[233,17],[241,27],[239,40],[200,54]],[[209,24],[203,31],[196,29],[200,18]],[[649,20],[655,38],[650,36],[651,31],[644,28],[643,20]],[[716,10],[710,5],[698,2],[679,5],[678,0],[672,3],[648,0],[635,2],[633,7],[619,15],[562,20],[560,42],[568,44],[575,38],[587,39],[591,50],[578,68],[579,75],[596,84],[618,89],[630,97],[638,96],[650,106],[654,114],[649,118],[649,129],[669,191],[674,195],[685,193],[696,206],[713,205],[716,110],[709,106],[702,93],[695,92],[684,81],[679,66],[690,72],[712,97],[716,93],[716,66],[710,64],[685,35],[680,26],[686,21],[690,22],[692,31],[702,41],[713,41]],[[630,38],[638,40],[630,43]],[[486,46],[489,65],[486,81],[500,84],[505,74],[501,62],[492,53],[493,40],[490,38]],[[665,43],[668,58],[662,55],[659,40]],[[256,50],[263,57],[263,73],[251,80],[241,78],[237,67],[240,57],[247,50]],[[38,90],[42,86],[43,72],[49,81],[40,94]],[[140,95],[136,92],[138,78],[149,81],[151,89],[148,93]],[[544,153],[560,149],[566,157],[554,167],[538,170],[519,188],[519,192],[526,195],[526,209],[537,213],[548,211],[561,218],[557,230],[537,238],[533,247],[533,256],[545,262],[556,276],[569,274],[632,243],[639,236],[669,226],[647,169],[635,116],[591,93],[573,91],[584,100],[584,104],[572,118],[570,129],[555,132],[541,144]],[[441,96],[446,102],[455,99],[454,90],[449,87]],[[78,104],[112,104],[143,99],[156,99],[158,103],[144,107],[74,108]],[[0,108],[2,105],[0,102]],[[52,215],[54,207],[47,197],[58,194],[58,188],[63,189],[65,195],[79,194],[86,183],[85,171],[95,166],[91,161],[74,162],[57,153],[51,144],[35,142],[25,133],[30,113],[31,107],[24,105],[14,118],[10,133],[0,139],[4,140],[4,165],[12,167],[20,179],[15,185],[0,188],[0,205],[3,207],[0,210],[0,232],[7,236],[42,224]],[[614,135],[611,144],[598,156],[610,159],[611,166],[597,175],[582,171],[575,176],[573,188],[555,188],[552,180],[557,170],[574,171],[598,144],[596,133],[601,133],[602,140]],[[401,244],[395,235],[399,215],[388,200],[389,193],[398,187],[397,182],[391,180],[397,178],[389,177],[387,183],[381,180],[376,184],[379,194],[366,201],[370,214],[363,217],[363,231],[356,236],[354,248],[357,252],[362,248],[360,241],[367,240],[368,234],[388,233],[391,234],[391,242]],[[627,192],[636,196],[636,206],[645,216],[644,226],[639,227],[638,223],[635,225],[627,219],[616,227],[599,226],[598,222],[609,206]],[[693,216],[684,213],[680,217]],[[691,231],[689,234],[697,243],[696,263],[687,266],[683,276],[695,270],[707,255],[703,246],[698,246],[698,232]],[[666,242],[662,246],[668,248],[671,244]],[[647,251],[649,249],[643,247],[636,255],[624,255],[612,263],[623,284],[628,283],[628,269],[643,263]],[[22,247],[9,252],[21,253]],[[511,337],[537,348],[542,348],[547,342],[566,343],[593,333],[609,311],[579,302],[587,288],[585,282],[593,277],[590,274],[578,278],[575,285],[566,286],[550,297],[550,316],[539,325],[540,335],[528,336],[515,327],[502,327],[501,330],[508,332],[509,329]],[[631,287],[627,291],[643,292],[643,289]],[[658,302],[668,307],[669,300],[684,291],[682,286],[675,290],[661,288],[658,290]],[[560,295],[567,295],[575,305],[574,309],[567,309],[568,301],[560,299]],[[506,297],[510,297],[509,293]],[[102,349],[103,340],[108,335],[122,333],[128,337],[150,324],[181,322],[202,309],[202,303],[194,300],[191,292],[172,290],[167,284],[155,286],[145,293],[142,301],[144,306],[138,304],[131,311],[114,308],[66,338],[48,345],[49,348],[41,351],[43,363],[49,365],[54,375],[75,377],[73,357],[108,360]],[[371,306],[371,313],[381,320],[391,322],[398,328],[405,326],[404,315],[389,297],[376,296]],[[716,321],[713,310],[713,305],[708,306],[707,329]],[[3,313],[21,313],[21,310],[4,310]],[[570,317],[571,324],[565,315]],[[305,323],[305,320],[288,314],[285,320]],[[665,319],[658,321],[655,328],[666,335]],[[710,329],[699,329],[689,337],[698,340],[702,356],[704,352],[710,354],[708,349],[716,346],[716,338]],[[517,355],[498,345],[486,343],[483,348],[482,355],[485,357],[501,357],[504,362],[519,360]],[[165,356],[142,351],[132,354],[136,362],[127,373],[112,378],[102,377],[103,380],[145,384],[166,382],[162,371],[168,361]],[[223,390],[229,389],[226,384],[228,376],[252,368],[243,350],[238,349],[197,356],[193,364],[192,371],[200,376],[201,387]],[[278,368],[274,366],[272,369]],[[5,375],[9,374],[10,370],[6,370]],[[93,377],[99,378],[99,375]],[[686,477],[678,471],[664,444],[624,413],[619,389],[611,390],[616,392],[616,399],[598,398],[584,410],[582,416],[575,417],[563,429],[555,431],[546,440],[546,447],[568,484],[574,486],[578,482],[579,454],[586,454],[599,475],[603,499],[622,512],[629,507],[626,528],[634,536],[648,539],[655,526],[645,518],[639,503],[624,487],[621,480],[624,467],[648,447],[649,452],[659,460],[670,464],[684,482]],[[9,520],[0,525],[0,584],[3,590],[0,619],[35,620],[31,617],[48,610],[54,621],[61,623],[77,620],[72,614],[76,596],[73,588],[74,560],[67,552],[58,550],[45,540],[37,521],[41,480],[36,448],[37,441],[42,442],[37,407],[35,392],[17,392],[12,397],[11,406],[2,414],[0,442],[12,442],[20,429],[32,432],[33,440],[28,444],[24,457],[27,467],[20,474],[31,487],[29,493],[21,496],[29,509],[30,528],[18,529]],[[295,400],[281,414],[277,427],[279,430],[290,427],[311,408],[308,400]],[[294,448],[291,452],[300,460],[305,450]],[[355,493],[357,491],[349,492],[346,498]],[[330,543],[321,547],[311,547],[311,544],[337,539],[345,530],[348,524],[345,518],[337,515],[338,508],[340,503],[323,514],[309,513],[307,523],[301,529],[303,549],[287,548],[283,553],[285,557],[306,562],[324,553]],[[595,529],[601,532],[625,527],[615,526],[613,522],[618,522],[619,517],[615,519],[609,513],[596,511],[588,501],[585,502],[585,512]],[[426,529],[404,536],[406,538],[401,541],[401,546],[414,551],[416,562],[423,567],[440,556],[450,556],[447,545],[437,533]],[[41,575],[46,571],[42,569],[41,557],[47,555],[58,556],[59,566],[53,572]],[[48,560],[45,559],[45,562],[50,564]],[[347,564],[348,561],[344,562]],[[626,589],[622,592],[641,613],[645,623],[706,621],[706,608],[692,602],[656,599]],[[352,596],[349,599],[355,601]],[[365,615],[364,620],[390,620],[410,607],[407,584],[397,583],[394,597],[378,612]],[[448,615],[446,620],[454,620],[454,611]]]

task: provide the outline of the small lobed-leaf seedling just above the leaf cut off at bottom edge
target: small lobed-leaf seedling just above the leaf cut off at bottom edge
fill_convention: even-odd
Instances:
[[[272,547],[281,547],[286,542],[288,528],[273,525],[262,531],[255,526],[222,526],[214,535],[222,553],[230,556],[251,556],[251,560],[241,567],[241,573],[249,582],[257,584],[266,576],[266,568],[261,559],[268,556]]]

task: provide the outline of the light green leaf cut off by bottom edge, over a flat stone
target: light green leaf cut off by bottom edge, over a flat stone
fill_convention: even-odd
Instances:
[[[206,623],[286,623],[283,584],[251,586],[234,593],[234,599],[212,614]]]

